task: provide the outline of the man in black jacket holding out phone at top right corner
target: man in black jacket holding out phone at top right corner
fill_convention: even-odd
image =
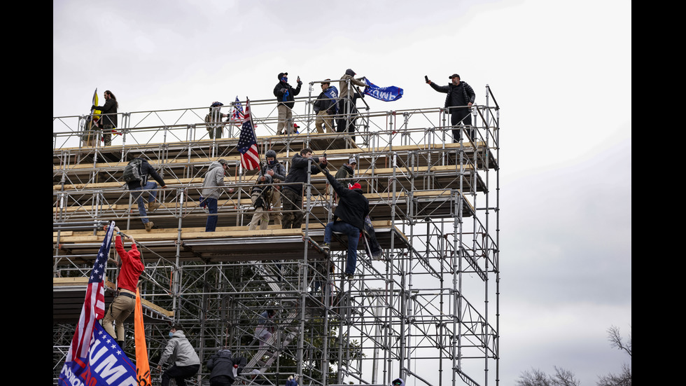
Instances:
[[[470,115],[471,106],[474,103],[476,94],[472,87],[467,82],[461,82],[458,74],[449,76],[451,83],[448,85],[436,85],[431,81],[426,81],[437,92],[447,93],[445,97],[444,108],[450,111],[450,125],[456,127],[463,124],[467,135],[470,139],[474,138],[474,129],[472,126],[472,116]],[[462,130],[458,128],[453,129],[453,142],[460,142],[462,140]]]

